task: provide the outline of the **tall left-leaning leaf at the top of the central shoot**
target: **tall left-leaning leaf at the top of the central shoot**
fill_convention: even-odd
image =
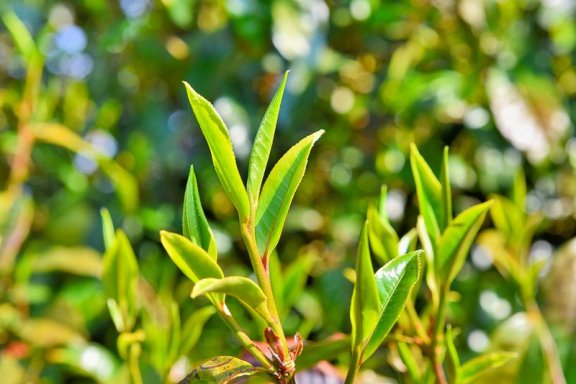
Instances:
[[[212,104],[196,93],[190,84],[184,82],[184,86],[190,106],[208,142],[214,169],[224,192],[238,211],[240,218],[244,220],[250,216],[250,204],[246,188],[238,172],[228,130]]]

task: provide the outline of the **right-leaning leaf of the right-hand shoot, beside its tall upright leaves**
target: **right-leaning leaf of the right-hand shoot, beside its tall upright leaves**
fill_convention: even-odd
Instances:
[[[491,206],[492,202],[488,201],[468,208],[442,234],[435,260],[438,272],[446,284],[450,284],[460,272]]]

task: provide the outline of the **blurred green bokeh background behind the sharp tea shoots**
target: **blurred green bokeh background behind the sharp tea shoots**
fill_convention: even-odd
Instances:
[[[573,355],[574,1],[4,0],[0,12],[0,374],[9,382],[111,382],[121,365],[99,280],[102,207],[135,249],[146,316],[158,320],[176,303],[186,319],[205,304],[189,299],[158,235],[181,231],[191,164],[225,269],[248,273],[233,207],[181,82],[214,103],[245,175],[286,70],[272,158],[326,131],[279,246],[283,264],[313,259],[286,315],[289,330],[312,340],[349,331],[343,271],[383,184],[396,230],[415,225],[414,142],[436,171],[450,147],[456,211],[510,195],[523,171],[526,210],[542,215],[530,249],[547,264],[539,299],[562,356]],[[14,34],[18,20],[31,39]],[[23,140],[26,130],[37,138]],[[456,281],[465,300],[451,320],[465,356],[490,348],[522,310],[491,260],[475,247]],[[176,368],[150,357],[162,339],[151,337],[145,382],[239,351],[223,329],[207,320]],[[82,360],[88,347],[98,369]]]

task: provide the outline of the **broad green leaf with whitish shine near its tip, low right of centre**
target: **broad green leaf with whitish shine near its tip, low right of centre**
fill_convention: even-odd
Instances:
[[[372,324],[362,362],[366,361],[382,344],[404,309],[410,290],[420,276],[420,257],[422,251],[410,252],[399,256],[376,272],[378,287],[377,322]]]

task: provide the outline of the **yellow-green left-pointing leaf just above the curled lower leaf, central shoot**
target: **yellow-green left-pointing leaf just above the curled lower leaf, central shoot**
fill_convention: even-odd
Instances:
[[[212,256],[184,236],[161,231],[160,240],[174,264],[194,283],[208,277],[224,277]]]

